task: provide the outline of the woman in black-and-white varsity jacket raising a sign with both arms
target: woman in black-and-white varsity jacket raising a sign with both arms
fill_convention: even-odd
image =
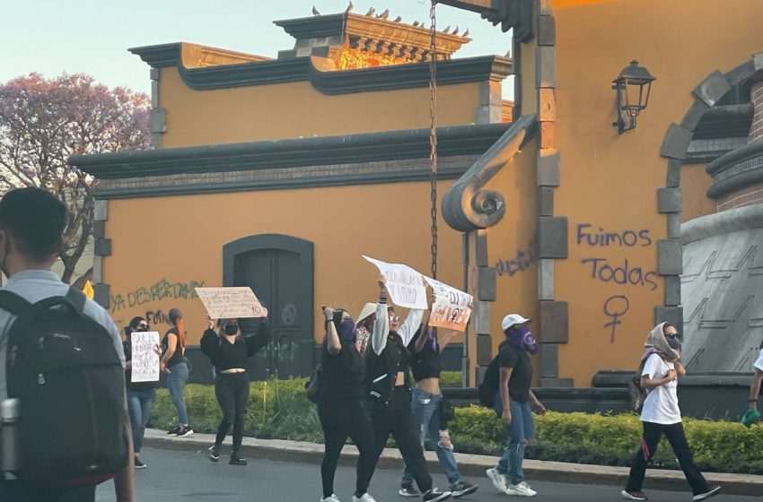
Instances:
[[[399,325],[395,309],[387,305],[386,283],[384,276],[379,278],[379,301],[376,304],[376,320],[371,335],[372,350],[369,351],[368,359],[368,394],[376,442],[374,463],[379,460],[391,434],[418,489],[424,494],[424,501],[438,502],[450,498],[451,492],[433,488],[432,476],[426,468],[424,448],[419,438],[420,428],[411,414],[408,382],[408,344],[417,330],[422,328],[425,311],[412,308],[403,324]]]

